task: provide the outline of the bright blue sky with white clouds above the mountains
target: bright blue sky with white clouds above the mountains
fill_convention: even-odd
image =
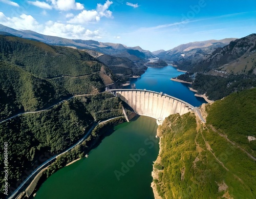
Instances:
[[[256,0],[0,0],[0,24],[170,50],[193,41],[256,33]]]

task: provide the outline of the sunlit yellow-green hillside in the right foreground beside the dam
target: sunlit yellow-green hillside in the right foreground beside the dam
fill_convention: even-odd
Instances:
[[[154,183],[162,198],[255,198],[256,89],[208,105],[206,124],[171,115],[159,128]],[[242,148],[242,149],[241,149]]]

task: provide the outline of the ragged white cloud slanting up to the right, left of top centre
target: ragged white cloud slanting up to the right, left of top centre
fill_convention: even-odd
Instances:
[[[97,4],[96,10],[83,10],[81,13],[70,19],[68,23],[84,24],[90,21],[99,21],[101,17],[112,18],[112,12],[109,9],[113,2],[107,0],[104,5]]]

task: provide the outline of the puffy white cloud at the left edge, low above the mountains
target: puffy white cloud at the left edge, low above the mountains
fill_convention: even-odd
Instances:
[[[35,18],[31,15],[22,14],[19,17],[7,17],[3,12],[0,12],[0,23],[14,29],[22,30],[42,30],[42,25],[39,25]]]

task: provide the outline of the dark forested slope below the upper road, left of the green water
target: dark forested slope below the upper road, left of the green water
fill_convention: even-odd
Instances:
[[[21,115],[0,123],[0,141],[8,142],[10,146],[10,190],[14,191],[17,183],[25,180],[24,177],[44,161],[75,144],[95,121],[123,116],[122,103],[119,98],[109,93],[77,97],[47,111]],[[92,136],[89,136],[87,148],[83,148],[84,150],[90,147],[90,140],[94,140],[95,144],[98,139],[96,134],[99,135],[99,132],[93,132]],[[1,152],[3,150],[1,148]],[[76,157],[83,156],[84,150],[76,149]],[[71,160],[72,156],[68,159]],[[3,157],[0,162],[0,167],[3,168]],[[4,179],[1,178],[1,187],[3,183]]]

